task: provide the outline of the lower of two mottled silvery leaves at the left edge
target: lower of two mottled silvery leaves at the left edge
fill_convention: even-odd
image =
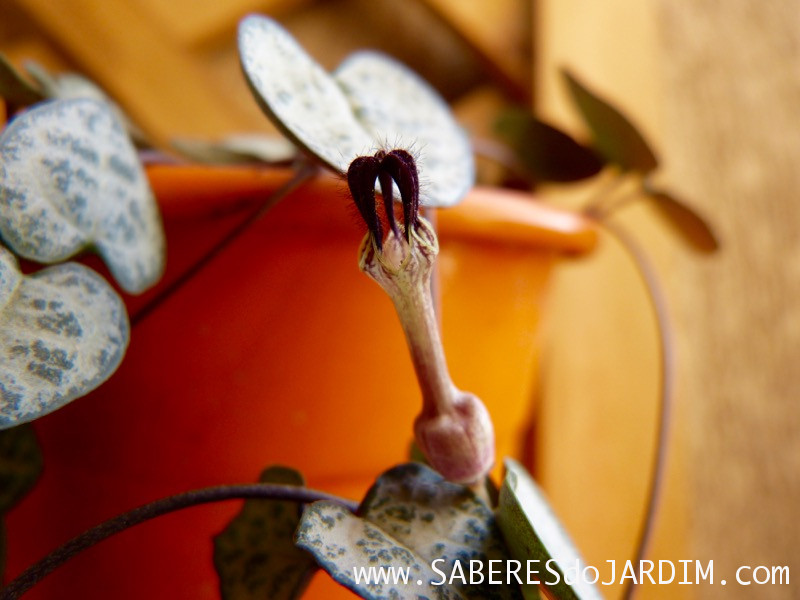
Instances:
[[[105,381],[128,345],[106,281],[76,263],[24,276],[0,248],[0,428],[31,421]]]

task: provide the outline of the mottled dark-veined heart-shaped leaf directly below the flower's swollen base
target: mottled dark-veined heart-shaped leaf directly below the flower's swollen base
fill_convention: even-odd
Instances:
[[[309,505],[297,544],[314,554],[336,581],[370,600],[521,598],[513,582],[489,583],[488,561],[508,558],[492,511],[469,488],[418,463],[381,475],[359,516],[333,502]],[[471,560],[481,566],[482,583],[477,575],[470,577]],[[505,562],[492,564],[493,579],[505,582]],[[370,567],[408,569],[407,583],[357,580],[359,569]]]

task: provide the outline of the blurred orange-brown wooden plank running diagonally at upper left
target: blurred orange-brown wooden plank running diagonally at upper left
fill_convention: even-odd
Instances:
[[[156,137],[220,135],[248,127],[246,119],[227,110],[229,91],[215,86],[199,61],[134,3],[16,2]]]

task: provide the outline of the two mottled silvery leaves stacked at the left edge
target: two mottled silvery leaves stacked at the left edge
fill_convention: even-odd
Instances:
[[[17,255],[58,263],[85,248],[138,293],[164,268],[153,194],[124,127],[105,102],[54,100],[0,135],[0,235]],[[125,306],[76,263],[23,275],[0,246],[0,428],[83,396],[128,344]]]

